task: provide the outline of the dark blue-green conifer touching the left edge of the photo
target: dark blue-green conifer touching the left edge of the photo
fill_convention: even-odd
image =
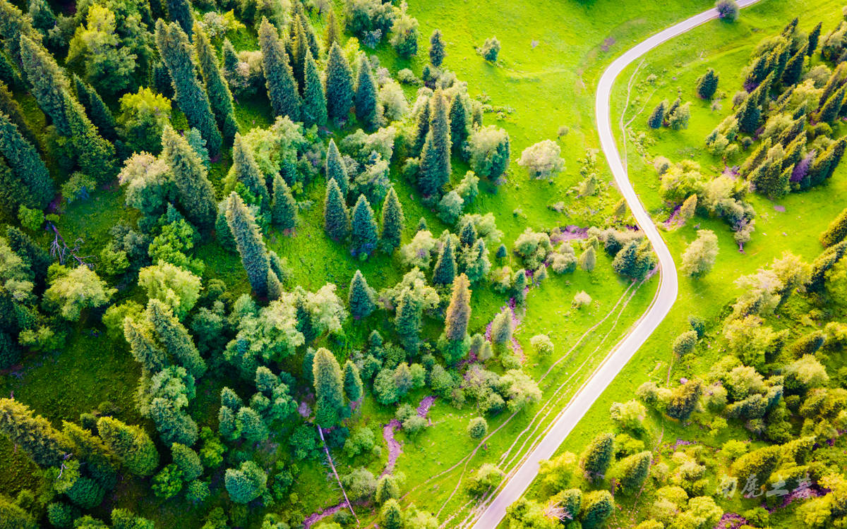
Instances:
[[[56,188],[36,148],[20,134],[17,125],[0,112],[0,154],[8,167],[25,186],[27,195],[19,196],[27,207],[44,209],[53,200]]]

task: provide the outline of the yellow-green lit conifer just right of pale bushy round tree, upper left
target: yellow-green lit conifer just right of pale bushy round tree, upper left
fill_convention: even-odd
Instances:
[[[170,168],[185,218],[200,229],[211,229],[217,205],[206,167],[197,152],[170,125],[162,133],[162,158]]]

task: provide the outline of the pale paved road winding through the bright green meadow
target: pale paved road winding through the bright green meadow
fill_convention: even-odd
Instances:
[[[740,0],[739,6],[745,8],[758,1]],[[654,47],[659,46],[662,42],[668,41],[675,36],[681,35],[698,25],[716,18],[717,10],[709,9],[689,19],[685,19],[679,24],[667,28],[667,30],[662,30],[654,36],[650,36],[650,38],[641,41],[628,50],[628,52],[623,53],[621,57],[617,58],[603,72],[600,78],[600,84],[597,86],[596,116],[597,129],[600,131],[601,148],[606,155],[610,168],[612,168],[612,175],[617,183],[617,188],[623,194],[623,198],[626,199],[629,209],[633,212],[639,228],[645,232],[650,243],[653,245],[653,249],[656,251],[656,255],[659,257],[661,269],[659,289],[656,292],[656,297],[653,299],[652,304],[639,318],[639,321],[635,323],[632,331],[617,343],[612,352],[606,356],[601,366],[591,375],[584,386],[579,389],[579,393],[556,416],[550,431],[546,433],[540,444],[524,458],[523,464],[518,468],[518,471],[501,488],[500,493],[497,494],[495,499],[473,525],[473,529],[492,529],[501,522],[506,515],[506,508],[519,499],[523,495],[523,491],[529,488],[529,484],[535,479],[535,476],[538,474],[539,461],[550,459],[556,453],[556,449],[559,448],[562,441],[573,431],[573,428],[576,427],[579,420],[582,419],[595,400],[606,390],[606,387],[612,383],[617,373],[633,357],[635,351],[639,350],[639,347],[645,343],[650,337],[650,334],[656,330],[659,323],[667,315],[667,312],[671,310],[673,302],[677,299],[677,270],[673,265],[673,256],[671,256],[671,252],[662,240],[659,230],[656,229],[656,225],[650,219],[650,215],[645,211],[632,184],[629,182],[627,170],[623,167],[623,162],[615,144],[615,137],[612,134],[612,118],[610,116],[609,102],[612,96],[612,86],[617,76],[629,64]]]

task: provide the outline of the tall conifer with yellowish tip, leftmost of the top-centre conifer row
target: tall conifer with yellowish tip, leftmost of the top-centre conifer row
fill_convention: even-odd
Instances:
[[[265,85],[268,87],[268,98],[274,115],[300,121],[300,95],[288,63],[288,55],[280,41],[279,31],[265,18],[259,25],[259,47],[262,48]]]

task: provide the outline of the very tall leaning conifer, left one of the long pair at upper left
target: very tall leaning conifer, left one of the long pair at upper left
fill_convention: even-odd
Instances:
[[[158,19],[156,46],[173,81],[176,104],[185,113],[189,126],[199,130],[206,140],[209,154],[217,157],[222,139],[208,95],[197,80],[197,65],[188,36],[179,25],[173,22],[165,24],[162,19]]]

